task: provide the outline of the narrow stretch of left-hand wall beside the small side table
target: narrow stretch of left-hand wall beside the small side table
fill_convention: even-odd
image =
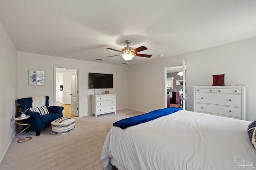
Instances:
[[[18,97],[18,52],[0,22],[0,164],[16,133],[14,117]]]

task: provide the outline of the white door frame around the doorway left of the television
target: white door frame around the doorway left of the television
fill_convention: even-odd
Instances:
[[[79,69],[78,67],[70,67],[70,66],[59,66],[59,65],[54,65],[53,66],[53,104],[54,106],[56,106],[56,68],[69,68],[69,69],[74,69],[77,70],[77,74],[79,73]],[[80,95],[79,95],[79,79],[80,79],[80,74],[78,74],[77,79],[76,79],[76,88],[78,91],[78,97],[77,97],[77,107],[79,108],[79,101],[80,101]],[[79,111],[78,111],[78,117],[79,117]]]

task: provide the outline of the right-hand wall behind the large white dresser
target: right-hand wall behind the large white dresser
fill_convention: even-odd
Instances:
[[[146,112],[163,108],[164,66],[182,65],[182,59],[188,62],[188,110],[193,111],[192,86],[210,86],[212,75],[225,74],[227,86],[231,81],[249,86],[246,92],[247,120],[256,119],[256,38],[130,66],[128,107]]]

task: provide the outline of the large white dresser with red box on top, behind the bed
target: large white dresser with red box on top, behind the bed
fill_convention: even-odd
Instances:
[[[246,86],[193,86],[194,111],[246,120]]]

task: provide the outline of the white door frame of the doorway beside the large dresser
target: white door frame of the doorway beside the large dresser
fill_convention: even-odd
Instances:
[[[188,62],[185,62],[185,65],[186,65],[186,81],[187,81],[188,80]],[[166,105],[167,105],[167,101],[166,101],[166,97],[167,97],[167,85],[166,85],[166,83],[167,83],[167,68],[177,67],[177,66],[182,66],[182,70],[183,70],[183,62],[181,62],[180,64],[175,65],[175,66],[164,66],[164,90],[163,90],[164,91],[164,107],[163,108],[166,108]],[[185,94],[183,94],[183,95],[186,96],[186,98],[187,98],[186,84],[185,84],[185,89],[184,89],[184,86],[182,86],[182,89],[183,89],[183,91],[185,90]]]

